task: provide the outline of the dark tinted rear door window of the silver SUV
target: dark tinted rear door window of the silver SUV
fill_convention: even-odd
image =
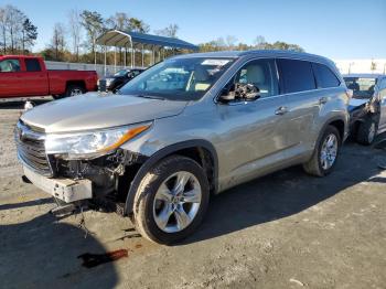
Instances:
[[[315,79],[310,62],[298,60],[277,60],[281,89],[286,94],[315,89]]]

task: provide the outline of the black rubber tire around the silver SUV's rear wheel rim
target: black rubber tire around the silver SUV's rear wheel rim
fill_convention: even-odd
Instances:
[[[335,149],[336,152],[335,152],[335,157],[333,158],[333,161],[331,161],[332,163],[329,163],[330,165],[325,165],[325,163],[328,162],[326,160],[330,160],[330,159],[325,158],[324,162],[322,162],[322,150],[324,151],[324,146],[328,146],[328,138],[330,136],[333,136],[336,140],[336,149]],[[331,173],[336,164],[341,144],[342,144],[342,140],[341,140],[339,130],[333,126],[328,126],[326,129],[323,131],[322,137],[319,139],[317,143],[317,147],[314,149],[311,160],[309,160],[307,163],[303,163],[304,171],[315,176],[324,176]]]

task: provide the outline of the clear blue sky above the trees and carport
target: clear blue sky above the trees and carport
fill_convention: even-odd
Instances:
[[[299,44],[331,58],[386,58],[386,0],[0,0],[37,26],[34,51],[50,43],[56,22],[68,25],[68,11],[98,11],[108,18],[126,12],[143,20],[151,33],[176,23],[178,36],[199,44],[234,35],[253,44]]]

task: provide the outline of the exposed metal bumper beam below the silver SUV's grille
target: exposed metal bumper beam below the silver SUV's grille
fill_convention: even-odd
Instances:
[[[89,180],[49,179],[23,165],[25,176],[39,189],[66,203],[93,197]]]

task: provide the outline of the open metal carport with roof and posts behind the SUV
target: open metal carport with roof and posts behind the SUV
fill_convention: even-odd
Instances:
[[[138,32],[128,32],[120,30],[109,30],[101,34],[96,40],[96,44],[105,46],[105,74],[106,74],[106,54],[107,47],[115,47],[114,65],[117,66],[117,47],[125,49],[125,66],[127,66],[126,52],[129,49],[131,56],[131,67],[136,66],[136,51],[140,50],[142,53],[142,67],[144,67],[144,51],[151,52],[150,64],[156,63],[156,52],[159,52],[159,58],[161,58],[161,51],[165,49],[182,49],[189,51],[199,51],[199,46],[189,43],[186,41],[173,38],[164,38],[159,35],[143,34]],[[164,57],[164,54],[163,54]],[[95,57],[96,61],[96,57]]]

